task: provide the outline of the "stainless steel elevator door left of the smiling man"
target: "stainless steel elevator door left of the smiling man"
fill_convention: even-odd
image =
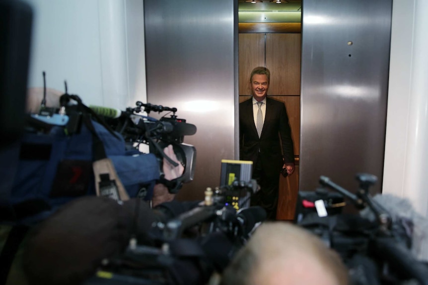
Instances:
[[[144,0],[147,101],[197,126],[195,179],[178,199],[203,199],[235,159],[237,1]],[[237,82],[237,81],[236,81]]]

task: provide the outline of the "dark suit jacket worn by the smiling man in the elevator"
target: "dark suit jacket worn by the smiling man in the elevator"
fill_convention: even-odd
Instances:
[[[255,164],[260,149],[265,174],[277,177],[284,163],[294,163],[293,142],[285,105],[266,98],[265,122],[259,138],[254,124],[252,99],[239,104],[240,160],[253,161]]]

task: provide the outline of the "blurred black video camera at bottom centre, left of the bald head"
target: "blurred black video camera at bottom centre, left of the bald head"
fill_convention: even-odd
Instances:
[[[228,265],[257,223],[266,218],[261,207],[237,211],[228,203],[237,197],[233,200],[246,205],[244,192],[252,194],[254,189],[254,180],[207,188],[204,202],[178,215],[170,210],[182,207],[181,203],[159,205],[154,210],[161,212],[162,219],[153,223],[150,242],[131,238],[122,255],[104,260],[96,275],[84,284],[207,284],[214,272],[221,273]]]

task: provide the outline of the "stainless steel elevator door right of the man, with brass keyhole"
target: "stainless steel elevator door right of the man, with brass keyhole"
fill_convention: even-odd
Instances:
[[[381,180],[391,12],[392,0],[303,1],[299,190],[320,175],[350,190],[357,172]]]

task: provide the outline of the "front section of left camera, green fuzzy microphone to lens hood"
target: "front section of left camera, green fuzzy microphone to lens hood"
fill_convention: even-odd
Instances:
[[[196,149],[193,145],[184,143],[184,136],[194,135],[196,126],[186,122],[186,119],[178,118],[175,115],[177,108],[163,107],[160,105],[143,104],[136,102],[135,108],[127,108],[120,111],[112,108],[89,106],[89,108],[115,131],[120,133],[129,149],[138,149],[140,144],[147,144],[149,152],[156,155],[162,166],[163,158],[172,165],[176,163],[170,160],[163,153],[163,148],[172,145],[177,159],[184,167],[184,172],[175,183],[168,185],[168,181],[161,181],[167,184],[171,193],[177,193],[181,188],[181,183],[193,180],[195,174]],[[155,119],[139,113],[146,112],[172,112],[170,117]],[[162,172],[162,167],[160,168]]]

